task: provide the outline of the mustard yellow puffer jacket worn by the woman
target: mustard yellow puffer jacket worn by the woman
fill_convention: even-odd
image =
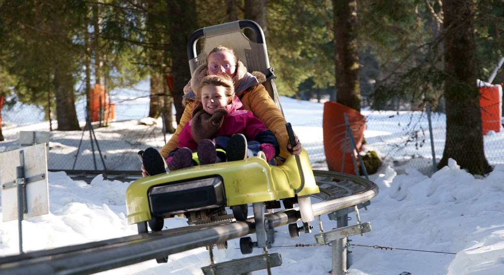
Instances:
[[[275,102],[271,99],[264,86],[256,84],[236,94],[236,96],[238,96],[241,103],[243,103],[243,109],[253,112],[254,115],[261,119],[266,127],[275,134],[278,144],[280,145],[280,155],[283,157],[291,155],[291,153],[287,151],[287,144],[289,141],[289,135],[287,134],[287,129],[285,128],[285,123],[287,123],[287,121],[285,121],[285,118],[282,116],[282,113],[276,106]],[[182,131],[185,123],[192,119],[195,104],[196,103],[194,101],[187,102],[175,133],[171,136],[170,141],[163,146],[160,151],[164,158],[167,158],[168,154],[177,147],[178,134]]]

